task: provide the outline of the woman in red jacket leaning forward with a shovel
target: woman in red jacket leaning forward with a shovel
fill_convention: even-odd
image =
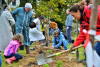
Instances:
[[[97,28],[96,31],[100,32],[100,10],[98,6],[98,18],[97,18]],[[92,6],[84,6],[84,2],[79,2],[78,4],[74,4],[70,8],[70,14],[75,18],[80,20],[80,34],[77,37],[74,44],[71,46],[70,50],[73,47],[76,47],[80,45],[84,40],[86,40],[85,33],[83,32],[83,29],[89,30],[89,23],[90,23],[90,17],[91,17],[91,10]]]

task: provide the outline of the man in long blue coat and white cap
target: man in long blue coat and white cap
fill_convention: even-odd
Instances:
[[[24,37],[24,44],[26,47],[26,54],[30,53],[29,50],[29,23],[33,22],[32,18],[32,5],[26,3],[25,7],[19,7],[12,11],[12,16],[14,17],[15,23],[15,34],[21,33]]]

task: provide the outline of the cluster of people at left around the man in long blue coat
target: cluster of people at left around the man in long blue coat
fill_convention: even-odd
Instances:
[[[25,7],[19,7],[12,11],[8,11],[8,7],[3,11],[0,16],[0,67],[2,64],[1,51],[4,51],[5,62],[11,64],[11,61],[22,59],[23,56],[17,53],[18,47],[22,44],[26,47],[26,54],[30,53],[29,46],[31,41],[41,40],[45,37],[41,31],[41,22],[45,19],[44,16],[40,15],[34,19],[34,14],[31,12],[32,5],[26,3]],[[33,20],[34,19],[34,20]],[[15,26],[15,35],[12,34],[11,26]],[[29,29],[30,27],[30,29]],[[34,28],[34,29],[33,29]],[[30,30],[30,31],[29,31]],[[29,38],[30,32],[30,38]],[[35,39],[32,38],[38,34]],[[40,39],[38,39],[40,37]]]

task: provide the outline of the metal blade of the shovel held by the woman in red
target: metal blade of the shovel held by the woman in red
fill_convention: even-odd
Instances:
[[[41,53],[38,56],[36,56],[36,59],[37,59],[38,65],[43,65],[43,64],[53,62],[52,58],[45,58],[44,53]]]

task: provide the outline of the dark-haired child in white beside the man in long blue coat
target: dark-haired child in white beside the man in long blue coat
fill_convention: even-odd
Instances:
[[[43,36],[42,32],[37,29],[36,23],[30,23],[30,30],[29,30],[29,38],[30,41],[37,41],[42,40],[45,37]]]

